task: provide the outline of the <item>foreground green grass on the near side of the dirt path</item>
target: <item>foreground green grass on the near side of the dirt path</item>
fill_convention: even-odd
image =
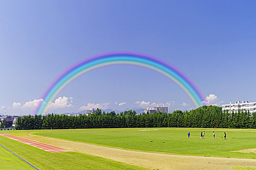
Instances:
[[[40,170],[146,170],[84,153],[49,153],[3,136],[0,136],[0,143]],[[0,148],[1,170],[35,170],[8,152]]]

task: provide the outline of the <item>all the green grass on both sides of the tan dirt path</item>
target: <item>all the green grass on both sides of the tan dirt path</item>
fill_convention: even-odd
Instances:
[[[231,152],[256,148],[256,130],[254,129],[146,128],[159,129],[159,131],[138,131],[142,129],[145,128],[1,131],[0,133],[21,137],[29,133],[146,152],[256,159],[256,153]],[[200,139],[201,131],[205,131],[204,139]],[[213,131],[216,134],[215,139],[213,139]],[[191,134],[190,139],[187,137],[188,132]],[[224,132],[227,134],[226,140],[222,138]],[[48,153],[3,136],[0,136],[0,144],[16,152],[40,170],[143,169],[84,153]],[[0,152],[2,150],[4,149],[0,148]],[[0,153],[4,165],[10,164],[10,159],[8,159],[8,157],[11,158],[10,154],[8,152]],[[24,167],[24,170],[30,169],[18,158],[12,157],[12,159],[18,162],[19,167]],[[12,165],[10,164],[10,166]],[[7,167],[5,169],[15,168]]]

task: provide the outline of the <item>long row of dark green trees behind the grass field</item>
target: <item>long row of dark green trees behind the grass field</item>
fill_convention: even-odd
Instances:
[[[129,110],[115,114],[97,109],[89,116],[77,117],[49,114],[24,116],[16,121],[17,130],[25,129],[81,129],[129,127],[189,127],[189,128],[256,128],[256,113],[247,111],[222,112],[218,106],[201,106],[195,110],[172,113],[136,115]]]

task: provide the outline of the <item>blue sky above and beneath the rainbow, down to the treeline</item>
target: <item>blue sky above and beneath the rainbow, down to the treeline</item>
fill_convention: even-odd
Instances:
[[[4,107],[8,114],[32,113],[61,72],[113,51],[170,63],[212,104],[255,102],[255,6],[253,0],[0,1],[0,113]],[[195,108],[165,76],[120,65],[82,75],[61,91],[49,112],[154,103],[169,110]]]

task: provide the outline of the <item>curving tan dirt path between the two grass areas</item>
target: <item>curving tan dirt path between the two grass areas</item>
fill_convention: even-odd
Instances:
[[[116,148],[96,146],[86,143],[55,139],[44,136],[22,136],[68,150],[87,153],[114,161],[124,162],[154,170],[230,170],[232,167],[256,168],[255,159],[217,158],[183,156],[162,153],[145,153]]]

